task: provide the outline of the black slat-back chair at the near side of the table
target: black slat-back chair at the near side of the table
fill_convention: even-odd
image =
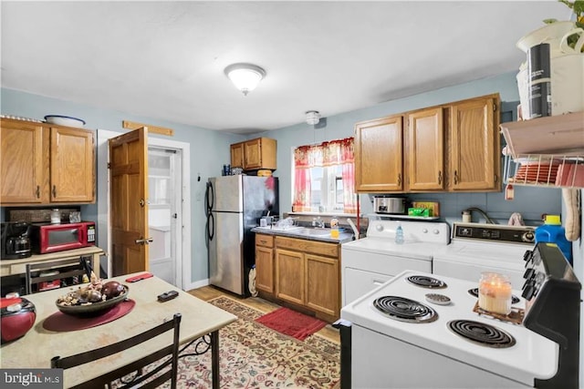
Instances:
[[[142,388],[156,388],[162,383],[171,380],[171,387],[174,389],[176,388],[178,372],[180,326],[181,313],[175,313],[172,321],[164,322],[152,328],[151,330],[148,330],[144,333],[139,333],[138,335],[132,336],[131,338],[125,339],[118,343],[113,343],[96,350],[91,350],[86,353],[78,353],[64,358],[56,356],[51,359],[51,367],[68,369],[70,367],[75,367],[84,363],[94,362],[114,353],[120,353],[124,350],[130,349],[131,347],[135,347],[141,343],[147,342],[162,333],[174,330],[172,344],[165,346],[159,351],[145,355],[135,362],[115,369],[110,373],[102,374],[97,378],[89,380],[88,382],[73,386],[74,388],[110,388],[111,384],[117,381],[116,386],[118,388],[130,388],[138,384],[143,384],[141,386]],[[141,374],[145,371],[144,367],[151,363],[161,361],[162,359],[164,359],[163,362],[156,368],[152,369],[151,372]],[[122,377],[125,377],[128,374],[134,372],[137,372],[137,375],[131,382],[128,383],[121,381]]]

